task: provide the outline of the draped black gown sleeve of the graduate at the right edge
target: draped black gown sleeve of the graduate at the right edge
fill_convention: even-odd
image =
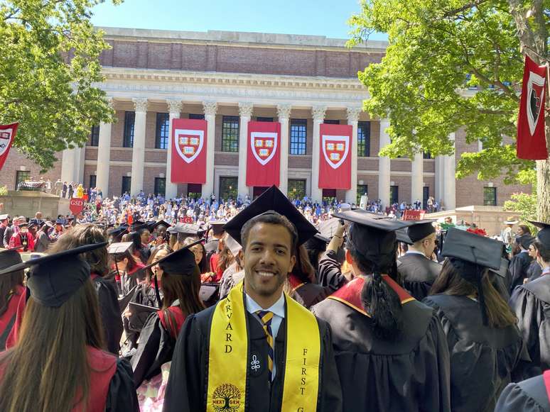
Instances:
[[[514,380],[522,380],[541,374],[540,367],[541,347],[539,342],[539,325],[544,319],[544,308],[539,299],[524,287],[518,287],[514,290],[512,298],[509,301],[517,318],[519,333],[529,352],[532,362],[522,360],[514,371]]]

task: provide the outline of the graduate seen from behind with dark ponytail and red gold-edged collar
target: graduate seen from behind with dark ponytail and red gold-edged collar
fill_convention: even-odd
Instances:
[[[395,230],[410,226],[345,211],[355,279],[313,306],[333,330],[343,410],[451,411],[449,353],[436,313],[397,284]]]

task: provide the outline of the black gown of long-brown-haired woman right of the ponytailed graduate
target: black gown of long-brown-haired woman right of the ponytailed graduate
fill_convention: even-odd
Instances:
[[[453,412],[492,412],[519,362],[519,330],[483,325],[480,305],[467,296],[438,294],[423,303],[435,309],[447,335]]]

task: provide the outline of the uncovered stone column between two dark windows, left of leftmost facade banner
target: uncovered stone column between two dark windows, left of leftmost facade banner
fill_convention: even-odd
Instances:
[[[135,105],[136,121],[134,122],[134,149],[131,155],[130,194],[134,195],[144,189],[147,99],[132,99],[132,101]]]

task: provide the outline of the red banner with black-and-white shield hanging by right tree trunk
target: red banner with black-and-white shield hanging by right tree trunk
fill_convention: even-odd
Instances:
[[[548,158],[544,133],[546,66],[538,66],[525,56],[522,99],[517,118],[517,157],[544,160]]]

